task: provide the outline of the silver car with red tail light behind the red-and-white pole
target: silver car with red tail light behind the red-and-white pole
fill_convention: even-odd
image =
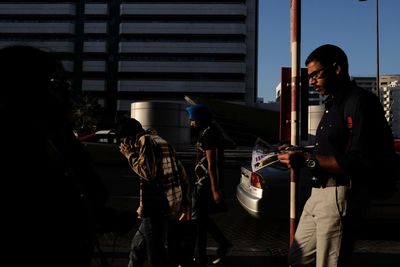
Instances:
[[[311,174],[301,169],[298,181],[299,213],[311,193]],[[390,220],[400,222],[400,184],[397,193],[384,200],[371,203],[367,215],[370,221]],[[240,205],[255,218],[289,218],[290,211],[290,171],[279,162],[272,164],[253,164],[249,159],[241,167],[240,182],[236,189],[236,198]]]

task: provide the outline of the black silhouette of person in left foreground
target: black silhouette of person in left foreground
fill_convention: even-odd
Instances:
[[[96,234],[113,220],[72,129],[69,85],[56,54],[0,49],[3,261],[11,265],[89,267]]]

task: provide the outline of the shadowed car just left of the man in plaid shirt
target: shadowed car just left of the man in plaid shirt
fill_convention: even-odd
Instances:
[[[91,154],[95,163],[125,162],[120,153],[119,141],[114,130],[100,130],[88,135],[78,137],[86,151]]]

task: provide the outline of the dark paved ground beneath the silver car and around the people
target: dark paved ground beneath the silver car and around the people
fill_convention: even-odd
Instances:
[[[135,203],[134,199],[118,199],[115,201],[119,203]],[[125,203],[124,205],[126,207],[130,204]],[[248,216],[234,199],[229,200],[229,206],[230,209],[228,212],[213,215],[213,218],[234,246],[221,264],[212,265],[210,263],[209,266],[287,266],[289,223],[283,221],[260,223],[257,219]],[[135,230],[132,229],[127,235],[117,238],[113,234],[100,236],[101,248],[110,266],[127,266],[130,240]],[[395,235],[387,233],[384,237],[385,239],[357,240],[352,266],[400,266],[400,240],[397,238],[391,239],[391,236]],[[212,257],[215,255],[215,251],[216,243],[209,238],[208,255]],[[96,261],[95,258],[93,266],[101,266],[98,259]],[[148,265],[145,265],[145,267],[148,267]]]

